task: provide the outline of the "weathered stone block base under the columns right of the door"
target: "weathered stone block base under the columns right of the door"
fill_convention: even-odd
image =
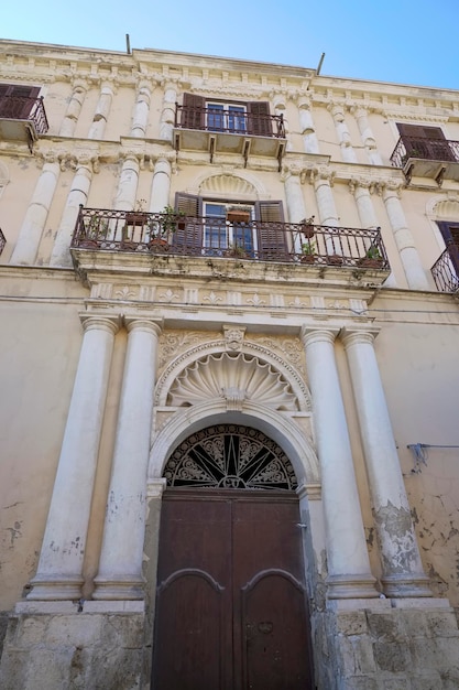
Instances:
[[[329,602],[314,637],[318,690],[459,688],[459,630],[446,600]]]

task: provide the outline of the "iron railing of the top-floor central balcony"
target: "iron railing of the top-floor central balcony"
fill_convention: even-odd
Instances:
[[[261,115],[212,109],[211,107],[190,107],[176,105],[175,127],[198,129],[207,132],[228,134],[256,134],[260,137],[285,138],[282,115]]]

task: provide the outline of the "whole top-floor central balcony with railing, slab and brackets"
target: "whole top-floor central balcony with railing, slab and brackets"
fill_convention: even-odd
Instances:
[[[238,153],[275,158],[281,169],[285,151],[285,126],[282,115],[237,112],[208,107],[176,105],[175,149],[207,151],[210,162],[217,153]]]

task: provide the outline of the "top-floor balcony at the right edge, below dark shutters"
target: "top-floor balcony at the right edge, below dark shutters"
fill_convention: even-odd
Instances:
[[[459,180],[459,141],[403,136],[391,162],[403,169],[408,183],[412,177],[428,177],[441,185],[444,180]]]

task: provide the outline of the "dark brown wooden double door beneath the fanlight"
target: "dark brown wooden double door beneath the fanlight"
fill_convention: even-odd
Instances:
[[[167,489],[153,690],[310,690],[298,500]]]

